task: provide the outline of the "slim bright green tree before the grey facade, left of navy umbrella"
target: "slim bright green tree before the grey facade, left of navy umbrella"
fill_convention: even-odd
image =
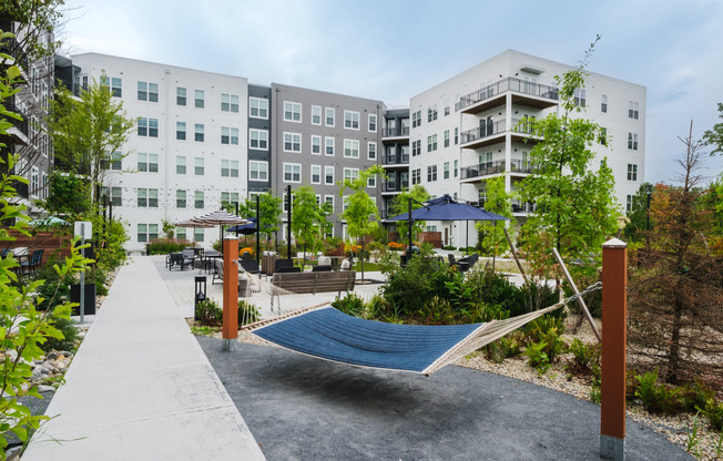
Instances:
[[[359,262],[362,264],[362,281],[364,281],[364,238],[374,229],[379,227],[379,209],[376,202],[371,199],[367,193],[367,185],[370,177],[383,176],[384,168],[379,165],[374,165],[362,173],[358,177],[353,180],[344,178],[339,195],[349,189],[352,195],[346,197],[346,209],[342,214],[342,218],[346,219],[349,236],[359,242]]]

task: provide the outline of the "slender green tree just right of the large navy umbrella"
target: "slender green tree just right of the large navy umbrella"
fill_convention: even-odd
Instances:
[[[500,176],[487,180],[485,186],[487,193],[485,209],[500,216],[512,218],[512,207],[510,206],[510,199],[512,197],[505,189],[505,177]],[[501,253],[509,248],[503,227],[507,226],[507,223],[479,221],[475,226],[477,227],[477,232],[482,234],[480,242],[482,248],[492,254],[492,270],[495,270],[495,258],[498,249]]]

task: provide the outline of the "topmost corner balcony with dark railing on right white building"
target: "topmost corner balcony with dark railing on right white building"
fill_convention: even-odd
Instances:
[[[455,111],[476,114],[503,104],[503,96],[512,92],[512,103],[529,107],[547,109],[558,103],[559,90],[556,86],[531,83],[508,76],[491,85],[466,94],[455,104]]]

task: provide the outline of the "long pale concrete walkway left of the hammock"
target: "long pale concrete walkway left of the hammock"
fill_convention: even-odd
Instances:
[[[22,461],[265,459],[152,258],[121,268],[65,381]]]

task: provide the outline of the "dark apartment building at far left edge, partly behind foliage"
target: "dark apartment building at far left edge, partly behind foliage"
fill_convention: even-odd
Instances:
[[[0,30],[16,34],[0,43],[0,52],[13,59],[12,64],[18,65],[24,82],[20,91],[4,102],[6,109],[20,114],[22,120],[10,120],[13,126],[0,142],[6,144],[9,154],[19,157],[13,174],[26,177],[28,184],[16,182],[13,187],[19,203],[28,207],[28,214],[37,216],[41,208],[34,201],[48,197],[48,174],[53,161],[45,116],[53,92],[54,60],[53,57],[31,60],[29,50],[23,49],[28,29],[18,22],[8,18],[0,19]],[[51,32],[33,33],[38,34],[38,40],[43,45],[54,40]],[[6,65],[3,62],[2,66]]]

